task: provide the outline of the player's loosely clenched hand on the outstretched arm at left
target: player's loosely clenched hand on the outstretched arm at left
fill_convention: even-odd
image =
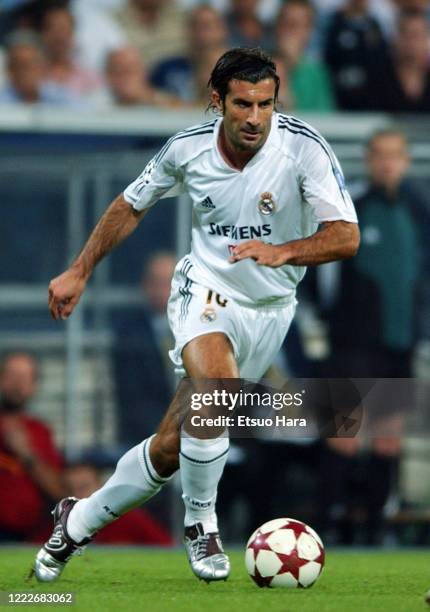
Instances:
[[[87,278],[71,267],[49,283],[48,306],[53,319],[67,319],[87,284]]]

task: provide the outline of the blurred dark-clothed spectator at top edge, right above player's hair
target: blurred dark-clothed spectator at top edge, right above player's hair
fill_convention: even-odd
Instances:
[[[272,33],[258,15],[258,4],[258,0],[230,0],[227,26],[232,47],[273,50]]]

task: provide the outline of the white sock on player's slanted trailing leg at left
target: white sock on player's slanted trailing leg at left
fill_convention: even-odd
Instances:
[[[157,474],[147,438],[118,461],[109,480],[90,497],[80,499],[69,514],[67,531],[77,543],[153,497],[169,480]]]

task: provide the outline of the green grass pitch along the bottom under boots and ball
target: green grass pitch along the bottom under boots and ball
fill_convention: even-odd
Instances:
[[[430,553],[327,551],[320,580],[310,589],[259,589],[247,576],[242,552],[231,553],[227,582],[198,581],[183,551],[89,548],[73,559],[59,582],[26,581],[33,548],[0,548],[0,590],[68,592],[73,606],[37,610],[148,612],[414,612],[430,608]],[[1,606],[3,608],[3,606]],[[8,606],[9,607],[9,606]],[[5,609],[5,608],[4,608]]]

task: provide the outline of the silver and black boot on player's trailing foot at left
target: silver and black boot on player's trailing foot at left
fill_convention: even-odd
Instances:
[[[77,544],[67,533],[67,518],[78,500],[76,497],[65,497],[55,506],[54,530],[51,537],[36,555],[33,573],[39,582],[54,582],[59,578],[66,563],[74,555],[81,555],[91,538],[85,538]]]

